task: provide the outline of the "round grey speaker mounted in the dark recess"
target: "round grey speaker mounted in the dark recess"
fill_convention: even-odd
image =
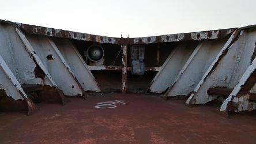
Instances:
[[[88,47],[87,56],[92,62],[99,62],[104,56],[104,50],[99,45]]]

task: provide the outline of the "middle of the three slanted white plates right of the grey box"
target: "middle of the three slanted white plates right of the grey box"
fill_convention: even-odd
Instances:
[[[180,70],[175,81],[169,86],[169,89],[163,96],[164,99],[168,96],[188,96],[191,94],[224,46],[225,41],[227,39],[201,41],[182,67],[182,70]],[[169,69],[172,69],[172,67]]]

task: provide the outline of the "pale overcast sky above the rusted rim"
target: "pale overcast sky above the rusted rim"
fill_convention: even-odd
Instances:
[[[0,0],[0,19],[109,37],[256,24],[255,0]]]

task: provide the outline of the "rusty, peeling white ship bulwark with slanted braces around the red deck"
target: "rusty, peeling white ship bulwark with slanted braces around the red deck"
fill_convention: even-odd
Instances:
[[[256,109],[255,28],[252,25],[118,38],[1,20],[0,55],[6,63],[1,65],[5,71],[5,75],[0,75],[5,81],[0,83],[5,93],[1,92],[1,98],[25,100],[29,102],[28,109],[35,109],[30,100],[35,98],[33,94],[37,97],[35,101],[66,104],[65,96],[86,99],[87,93],[135,92],[157,94],[165,100],[186,97],[190,106],[217,100],[223,105],[216,111],[225,112],[227,117],[230,105],[235,105],[236,112],[253,111]],[[18,42],[14,43],[15,40]],[[93,44],[102,47],[102,59],[88,59],[87,51]],[[138,67],[139,71],[145,71],[143,75],[131,73],[131,47],[136,45],[145,47],[145,67]],[[12,56],[6,56],[9,54]],[[9,81],[7,77],[16,80]],[[21,92],[13,96],[7,85],[23,87],[17,88]]]

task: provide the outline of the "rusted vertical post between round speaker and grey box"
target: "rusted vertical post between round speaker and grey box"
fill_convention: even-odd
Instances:
[[[126,93],[127,89],[127,45],[121,46],[122,54],[122,93]]]

